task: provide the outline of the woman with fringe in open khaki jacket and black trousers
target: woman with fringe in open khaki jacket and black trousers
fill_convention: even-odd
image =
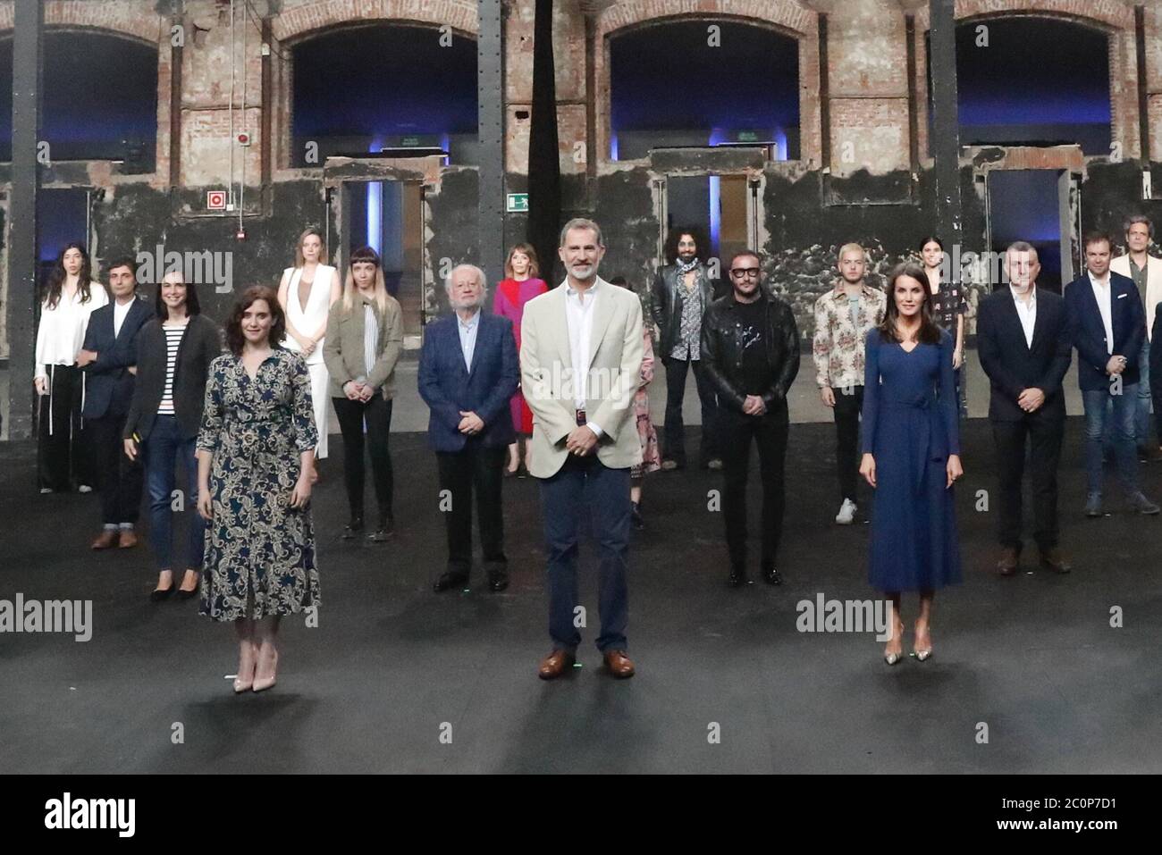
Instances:
[[[364,429],[371,452],[372,480],[379,504],[379,525],[367,537],[382,543],[394,534],[392,398],[395,364],[403,350],[403,312],[387,293],[379,254],[370,246],[351,253],[343,299],[327,322],[323,360],[331,378],[331,401],[343,432],[343,480],[347,487],[351,522],[344,539],[364,527]]]

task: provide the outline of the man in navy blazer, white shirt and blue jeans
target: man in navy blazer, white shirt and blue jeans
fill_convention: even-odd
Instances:
[[[1157,513],[1138,487],[1134,414],[1138,359],[1146,338],[1146,312],[1134,280],[1110,271],[1113,242],[1104,232],[1085,236],[1086,272],[1066,287],[1069,338],[1077,349],[1077,382],[1085,407],[1085,516],[1102,516],[1102,434],[1112,403],[1118,476],[1129,506]]]

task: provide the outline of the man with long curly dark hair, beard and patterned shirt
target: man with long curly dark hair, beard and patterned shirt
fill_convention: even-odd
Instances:
[[[713,302],[713,285],[700,253],[709,244],[694,227],[674,229],[666,240],[666,259],[674,263],[658,271],[650,294],[651,311],[658,324],[655,353],[666,366],[666,431],[662,444],[662,468],[686,467],[686,441],[682,423],[682,398],[686,375],[693,368],[702,403],[702,443],[698,448],[703,469],[720,469],[716,447],[715,419],[718,403],[700,353],[702,318]]]

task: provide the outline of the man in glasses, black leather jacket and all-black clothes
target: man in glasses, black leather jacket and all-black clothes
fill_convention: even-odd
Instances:
[[[762,287],[755,253],[734,256],[729,272],[732,292],[715,301],[702,323],[702,359],[719,402],[727,582],[746,582],[746,479],[753,438],[762,476],[762,577],[780,584],[775,553],[783,526],[787,393],[798,374],[798,328],[790,307]]]

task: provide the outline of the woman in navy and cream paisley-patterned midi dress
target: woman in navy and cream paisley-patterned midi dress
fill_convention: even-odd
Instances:
[[[274,290],[248,288],[227,322],[230,352],[210,362],[198,434],[198,512],[213,523],[201,612],[235,624],[236,692],[274,685],[279,618],[320,604],[308,505],[318,431],[285,335]]]

